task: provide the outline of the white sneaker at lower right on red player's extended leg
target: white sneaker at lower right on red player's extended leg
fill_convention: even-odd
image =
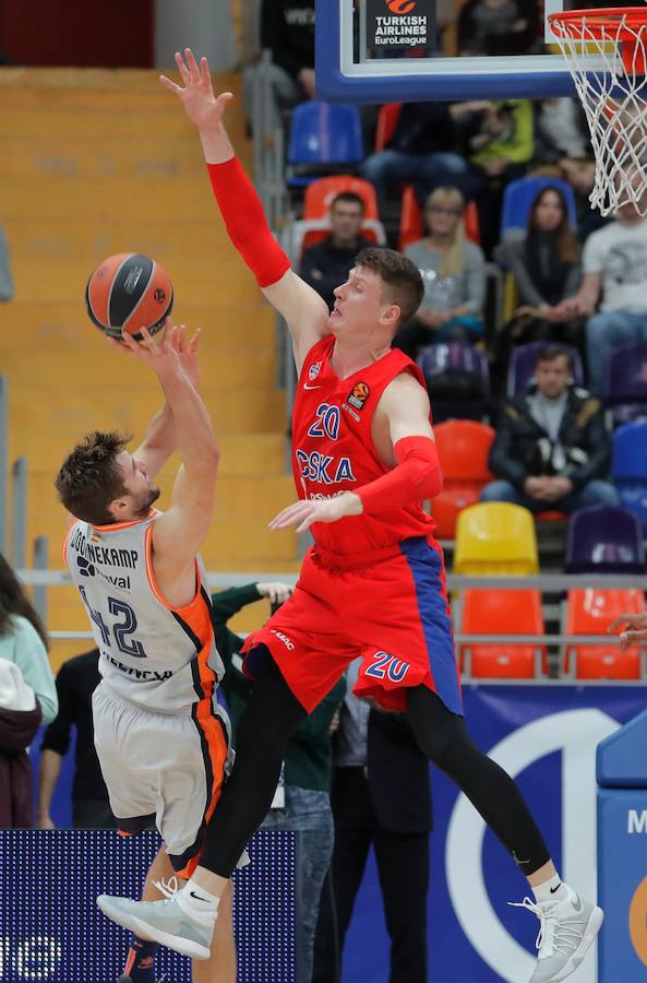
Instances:
[[[529,983],[558,983],[574,973],[588,952],[604,919],[601,908],[585,901],[568,888],[563,901],[532,901],[524,898],[513,908],[525,908],[540,922],[537,936],[537,966]]]

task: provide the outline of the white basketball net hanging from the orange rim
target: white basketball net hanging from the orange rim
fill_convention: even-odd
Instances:
[[[620,10],[604,19],[603,27],[595,10],[582,11],[574,20],[551,16],[550,23],[591,134],[596,156],[591,208],[609,215],[633,203],[646,215],[647,11],[645,23]]]

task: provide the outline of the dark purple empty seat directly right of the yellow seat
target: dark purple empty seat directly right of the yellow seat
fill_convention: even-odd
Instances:
[[[615,506],[590,506],[571,516],[566,573],[644,573],[645,546],[637,518]]]

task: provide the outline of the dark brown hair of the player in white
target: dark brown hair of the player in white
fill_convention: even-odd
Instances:
[[[125,494],[117,455],[130,438],[117,431],[93,430],[63,461],[55,485],[60,501],[72,516],[93,525],[113,522],[109,505]]]

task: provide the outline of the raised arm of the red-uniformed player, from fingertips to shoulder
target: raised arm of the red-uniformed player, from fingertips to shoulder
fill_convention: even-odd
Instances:
[[[259,196],[235,155],[223,122],[232,94],[215,95],[206,58],[199,64],[190,48],[183,56],[177,54],[176,62],[183,85],[166,75],[161,75],[160,81],[179,96],[187,116],[197,127],[214,194],[229,237],[269,303],[286,319],[300,370],[312,345],[327,333],[327,306],[290,269],[287,256],[267,225]]]

